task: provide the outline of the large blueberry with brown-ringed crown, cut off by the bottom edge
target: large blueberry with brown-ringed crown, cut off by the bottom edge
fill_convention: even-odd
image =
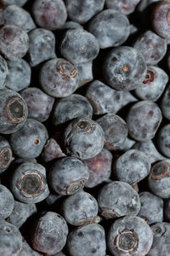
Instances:
[[[136,216],[117,219],[107,237],[107,245],[115,256],[144,256],[150,251],[152,241],[150,226]]]

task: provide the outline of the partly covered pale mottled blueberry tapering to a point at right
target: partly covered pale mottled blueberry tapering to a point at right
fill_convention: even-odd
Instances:
[[[116,113],[130,102],[137,99],[126,90],[114,90],[99,80],[88,85],[86,97],[91,103],[94,114]]]

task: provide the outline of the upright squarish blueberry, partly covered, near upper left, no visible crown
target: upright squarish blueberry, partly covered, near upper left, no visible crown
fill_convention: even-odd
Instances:
[[[43,28],[36,28],[29,32],[28,55],[31,67],[42,61],[56,58],[54,33]],[[43,49],[43,50],[42,50]]]

